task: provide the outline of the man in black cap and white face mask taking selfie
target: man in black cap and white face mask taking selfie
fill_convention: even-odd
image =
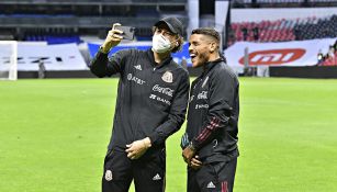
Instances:
[[[153,32],[150,49],[124,49],[108,58],[123,38],[113,27],[90,64],[98,77],[120,74],[103,192],[127,192],[132,181],[137,192],[165,191],[165,140],[184,121],[190,82],[171,57],[182,47],[181,22],[165,18]]]

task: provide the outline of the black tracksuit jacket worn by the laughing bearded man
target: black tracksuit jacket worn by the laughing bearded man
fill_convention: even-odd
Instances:
[[[238,156],[239,82],[217,59],[204,66],[191,87],[187,133],[203,162]]]

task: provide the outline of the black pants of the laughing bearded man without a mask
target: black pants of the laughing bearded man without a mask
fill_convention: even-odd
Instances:
[[[188,192],[233,192],[237,158],[188,168]]]

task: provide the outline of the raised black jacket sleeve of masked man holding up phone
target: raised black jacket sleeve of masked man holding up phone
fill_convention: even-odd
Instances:
[[[114,54],[113,57],[108,58],[108,54],[99,50],[91,60],[89,68],[97,77],[111,77],[123,70],[125,56],[128,50],[121,50]]]

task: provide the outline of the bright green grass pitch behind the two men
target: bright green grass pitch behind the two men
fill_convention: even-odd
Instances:
[[[0,191],[99,192],[116,86],[0,81]],[[167,192],[186,191],[183,131],[167,142]],[[337,80],[240,78],[239,149],[236,192],[337,191]]]

